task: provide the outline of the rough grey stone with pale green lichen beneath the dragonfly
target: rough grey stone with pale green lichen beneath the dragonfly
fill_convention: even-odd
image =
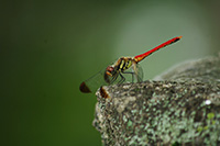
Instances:
[[[103,145],[220,145],[220,56],[156,79],[97,91],[94,126]]]

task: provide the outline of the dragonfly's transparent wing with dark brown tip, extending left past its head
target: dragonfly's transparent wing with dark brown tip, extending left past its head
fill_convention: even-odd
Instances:
[[[96,92],[101,86],[108,85],[103,79],[105,70],[99,71],[95,76],[81,82],[79,89],[81,92],[89,93]]]

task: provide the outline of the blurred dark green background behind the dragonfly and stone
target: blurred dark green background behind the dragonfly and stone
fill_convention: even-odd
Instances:
[[[101,145],[82,80],[174,37],[141,63],[144,79],[219,52],[218,0],[0,2],[1,146]]]

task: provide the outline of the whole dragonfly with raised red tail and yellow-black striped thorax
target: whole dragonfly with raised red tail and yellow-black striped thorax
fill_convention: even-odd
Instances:
[[[99,71],[97,75],[81,82],[79,89],[81,92],[89,93],[96,91],[100,86],[112,85],[114,82],[122,83],[125,78],[124,75],[132,75],[132,82],[136,80],[142,81],[143,71],[139,66],[139,61],[151,55],[152,53],[163,48],[169,44],[179,41],[182,36],[174,37],[153,49],[138,55],[135,57],[121,57],[114,64],[108,66],[105,70]],[[118,78],[120,77],[120,79]]]

